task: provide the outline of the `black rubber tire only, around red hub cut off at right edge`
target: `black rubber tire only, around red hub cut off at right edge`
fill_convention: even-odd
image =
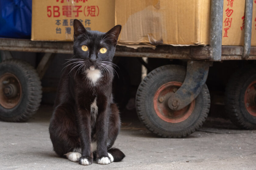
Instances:
[[[244,104],[245,91],[254,80],[256,67],[249,65],[233,73],[226,85],[226,113],[233,124],[241,129],[256,129],[256,117],[247,111]]]

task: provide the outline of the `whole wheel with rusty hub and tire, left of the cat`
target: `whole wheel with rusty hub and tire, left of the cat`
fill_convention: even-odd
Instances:
[[[0,120],[27,121],[40,105],[41,88],[30,64],[15,59],[0,63]]]

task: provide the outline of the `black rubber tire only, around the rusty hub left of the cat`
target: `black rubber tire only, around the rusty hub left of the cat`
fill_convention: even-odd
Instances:
[[[20,102],[11,109],[0,105],[0,119],[10,122],[27,121],[38,110],[42,98],[37,71],[23,60],[11,59],[0,63],[0,77],[4,73],[12,73],[19,79],[22,96]]]

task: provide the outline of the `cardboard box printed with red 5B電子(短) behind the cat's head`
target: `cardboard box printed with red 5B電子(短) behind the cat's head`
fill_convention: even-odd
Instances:
[[[115,0],[33,0],[31,40],[73,41],[73,20],[107,32],[115,26]]]

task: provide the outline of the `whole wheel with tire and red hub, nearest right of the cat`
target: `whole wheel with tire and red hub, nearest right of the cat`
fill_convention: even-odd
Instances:
[[[136,94],[136,109],[140,121],[153,133],[168,138],[190,135],[202,126],[210,108],[206,85],[188,106],[180,110],[168,107],[169,97],[182,85],[186,69],[166,65],[148,73]]]

